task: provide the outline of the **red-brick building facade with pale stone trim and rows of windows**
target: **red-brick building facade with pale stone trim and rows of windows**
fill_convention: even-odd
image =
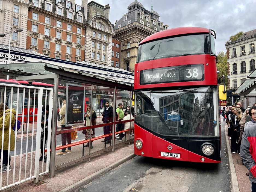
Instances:
[[[30,0],[27,49],[67,61],[84,61],[87,0]],[[82,3],[82,5],[83,5]]]

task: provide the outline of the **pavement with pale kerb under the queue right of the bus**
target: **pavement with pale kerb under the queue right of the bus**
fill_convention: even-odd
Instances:
[[[249,176],[245,175],[245,173],[249,171],[243,165],[242,159],[239,153],[233,154],[230,150],[231,140],[229,139],[229,136],[228,136],[227,124],[225,125],[225,141],[227,146],[226,153],[228,153],[228,162],[229,162],[229,169],[231,174],[232,192],[250,192],[251,184],[249,181]]]

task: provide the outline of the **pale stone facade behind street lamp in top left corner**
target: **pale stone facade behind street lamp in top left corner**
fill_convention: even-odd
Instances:
[[[6,34],[5,37],[0,37],[0,44],[9,45],[11,35],[11,46],[26,48],[28,9],[32,5],[29,0],[0,1],[0,34]],[[22,28],[23,31],[7,34],[18,28]]]

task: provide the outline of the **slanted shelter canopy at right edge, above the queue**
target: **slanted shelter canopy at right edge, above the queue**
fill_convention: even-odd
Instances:
[[[243,97],[256,97],[256,70],[247,76],[245,81],[237,88],[235,94]]]

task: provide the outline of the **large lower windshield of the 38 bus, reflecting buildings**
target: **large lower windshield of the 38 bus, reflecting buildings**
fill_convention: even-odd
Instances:
[[[214,123],[214,92],[217,87],[212,86],[136,91],[135,122],[163,137],[219,136]]]

